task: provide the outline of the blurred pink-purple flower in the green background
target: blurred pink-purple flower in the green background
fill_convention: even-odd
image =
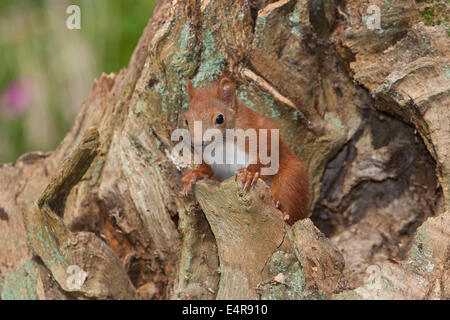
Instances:
[[[29,108],[32,99],[32,88],[25,80],[14,80],[9,83],[1,97],[1,110],[7,118],[17,118]]]

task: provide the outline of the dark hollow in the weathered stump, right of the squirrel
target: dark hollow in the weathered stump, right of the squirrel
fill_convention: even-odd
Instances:
[[[342,252],[351,288],[370,265],[404,260],[441,195],[436,165],[415,129],[374,109],[328,163],[314,224]]]

